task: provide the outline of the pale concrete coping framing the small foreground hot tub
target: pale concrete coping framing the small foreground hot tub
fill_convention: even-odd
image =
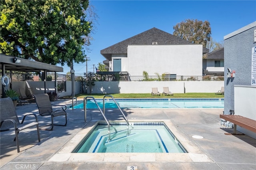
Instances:
[[[131,122],[164,122],[188,153],[72,153],[99,120],[92,120],[54,154],[50,162],[213,162],[186,134],[170,120],[140,120]],[[123,121],[112,121],[123,122]],[[202,140],[202,139],[199,139]],[[204,139],[203,139],[204,140]]]

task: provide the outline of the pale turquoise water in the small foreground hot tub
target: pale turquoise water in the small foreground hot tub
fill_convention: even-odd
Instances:
[[[130,123],[128,135],[126,124],[112,125],[110,140],[108,126],[98,125],[73,152],[184,153],[186,150],[164,123],[151,122]]]

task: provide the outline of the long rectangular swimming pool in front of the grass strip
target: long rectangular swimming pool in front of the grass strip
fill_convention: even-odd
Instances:
[[[115,99],[120,108],[224,108],[224,99]],[[98,105],[103,108],[103,99],[96,99]],[[70,106],[72,109],[72,106]],[[81,101],[74,109],[83,109]],[[93,100],[88,99],[87,109],[97,109]],[[117,108],[112,99],[105,99],[105,108]]]

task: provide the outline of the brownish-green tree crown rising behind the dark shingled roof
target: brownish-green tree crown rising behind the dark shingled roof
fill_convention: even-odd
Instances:
[[[207,41],[210,41],[211,27],[208,21],[188,19],[176,24],[173,29],[174,36],[192,43],[203,44],[203,47],[206,47]]]

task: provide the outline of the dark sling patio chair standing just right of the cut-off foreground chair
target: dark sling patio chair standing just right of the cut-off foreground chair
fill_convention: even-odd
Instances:
[[[53,126],[54,125],[58,125],[58,126],[66,126],[67,125],[67,113],[66,113],[66,105],[52,105],[52,103],[50,102],[50,98],[49,95],[47,93],[45,94],[38,94],[38,95],[34,95],[35,99],[36,99],[36,105],[38,107],[38,111],[40,116],[51,116],[52,119],[52,123],[49,125],[45,125],[46,126],[52,126],[50,129],[44,129],[44,130],[53,130]],[[60,106],[61,108],[57,109],[57,110],[53,110],[52,106]],[[59,125],[59,124],[54,124],[53,123],[53,118],[57,117],[57,116],[62,116],[64,115],[66,117],[66,123],[64,125]]]

